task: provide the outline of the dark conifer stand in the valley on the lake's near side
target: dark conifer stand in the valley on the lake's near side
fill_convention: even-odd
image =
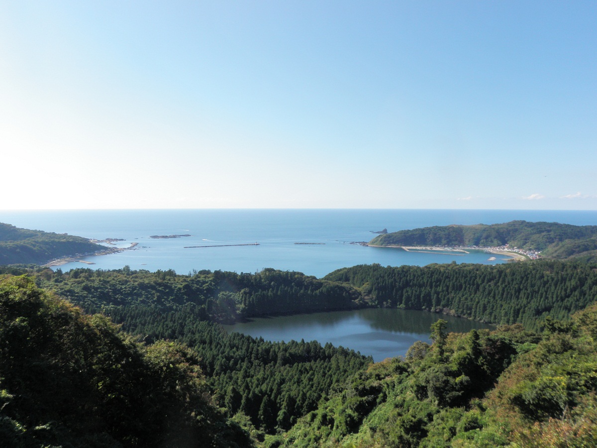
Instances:
[[[334,384],[373,362],[315,340],[284,343],[228,334],[219,324],[199,320],[192,304],[168,312],[126,306],[110,315],[146,341],[171,339],[193,348],[217,403],[229,416],[241,412],[266,432],[290,428]]]

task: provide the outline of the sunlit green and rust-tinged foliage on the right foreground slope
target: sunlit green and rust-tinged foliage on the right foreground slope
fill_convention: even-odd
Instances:
[[[267,446],[597,445],[597,305],[572,322],[445,334],[371,365]],[[494,384],[495,383],[495,384]]]

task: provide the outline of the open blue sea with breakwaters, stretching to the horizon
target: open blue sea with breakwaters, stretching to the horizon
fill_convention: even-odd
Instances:
[[[350,244],[369,241],[371,231],[389,232],[449,224],[493,224],[511,220],[597,225],[597,211],[560,210],[404,210],[404,209],[210,209],[210,210],[43,210],[0,211],[0,222],[48,232],[67,232],[87,238],[124,238],[120,246],[138,243],[135,250],[90,256],[61,266],[117,269],[193,269],[257,272],[263,268],[300,271],[323,277],[335,269],[364,263],[383,266],[429,263],[503,263],[498,257],[472,252],[429,254],[394,248]],[[150,235],[190,234],[191,237],[152,239]],[[185,246],[227,246],[185,248]],[[323,244],[294,244],[323,243]]]

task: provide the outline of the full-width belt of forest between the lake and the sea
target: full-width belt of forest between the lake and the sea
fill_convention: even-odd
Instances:
[[[112,271],[45,269],[36,274],[36,281],[85,311],[104,312],[118,323],[126,322],[125,311],[141,306],[160,312],[192,309],[197,320],[213,322],[376,306],[441,312],[493,324],[522,323],[537,329],[544,317],[565,320],[597,298],[595,266],[561,260],[496,266],[359,265],[322,279],[275,269],[257,274],[178,275],[125,266]],[[133,324],[127,327],[131,329]]]

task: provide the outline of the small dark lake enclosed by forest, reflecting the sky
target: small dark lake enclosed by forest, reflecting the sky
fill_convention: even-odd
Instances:
[[[266,340],[317,340],[330,342],[373,356],[373,360],[404,356],[417,340],[430,343],[429,328],[438,319],[448,321],[448,331],[469,332],[491,326],[463,318],[424,311],[371,308],[356,311],[318,312],[224,325],[227,332],[239,332]]]

